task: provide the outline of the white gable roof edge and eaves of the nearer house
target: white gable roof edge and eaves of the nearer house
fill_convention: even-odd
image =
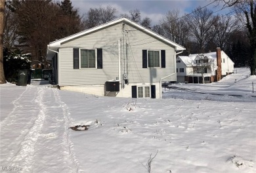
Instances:
[[[47,54],[48,54],[48,56],[49,56],[49,54],[53,55],[53,52],[52,51],[48,52],[48,50],[51,49],[51,50],[57,51],[58,48],[60,47],[61,43],[64,43],[64,42],[69,41],[71,39],[75,39],[76,37],[80,37],[82,35],[91,33],[91,32],[96,31],[98,29],[106,28],[107,26],[111,26],[111,25],[116,24],[118,22],[127,22],[127,23],[131,24],[132,26],[135,26],[138,29],[142,29],[146,33],[160,39],[161,41],[164,41],[165,43],[167,43],[169,45],[172,45],[173,47],[175,47],[176,51],[186,49],[186,48],[182,47],[181,45],[179,45],[179,44],[177,44],[177,43],[175,43],[175,42],[173,42],[169,39],[166,39],[165,37],[159,35],[158,33],[155,33],[154,31],[152,31],[150,29],[144,28],[144,26],[140,26],[139,24],[136,24],[135,22],[133,22],[133,21],[127,19],[127,18],[118,18],[116,20],[112,20],[111,22],[107,22],[106,24],[102,24],[100,26],[96,26],[94,28],[87,29],[85,31],[81,31],[79,33],[75,33],[74,35],[70,35],[68,37],[64,37],[63,39],[59,39],[59,40],[56,40],[56,41],[53,41],[53,42],[49,43],[49,45],[47,45],[47,47],[48,47],[47,48]]]

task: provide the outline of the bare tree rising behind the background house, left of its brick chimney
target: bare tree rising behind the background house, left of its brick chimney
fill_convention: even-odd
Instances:
[[[194,41],[198,44],[198,51],[204,52],[207,43],[215,36],[213,25],[217,22],[217,17],[213,15],[213,11],[198,7],[192,14],[187,15],[185,20]]]

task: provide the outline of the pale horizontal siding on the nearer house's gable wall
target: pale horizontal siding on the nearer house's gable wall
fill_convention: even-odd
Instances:
[[[62,43],[60,54],[60,83],[58,85],[104,85],[106,81],[121,78],[123,73],[129,73],[129,83],[154,83],[159,82],[162,77],[175,73],[175,48],[159,41],[155,37],[137,30],[133,26],[125,24],[129,33],[128,47],[123,46],[122,28],[123,23],[115,24],[104,29],[99,29],[88,35],[83,35],[77,39],[72,39]],[[119,43],[118,43],[119,41]],[[73,48],[95,49],[102,48],[102,69],[88,68],[86,70],[75,70],[73,67]],[[124,50],[123,50],[124,48]],[[126,52],[127,48],[127,58]],[[161,53],[165,50],[165,68],[142,68],[142,50],[158,50],[159,65]],[[95,52],[96,53],[96,52]],[[121,74],[118,74],[118,55],[121,59]],[[124,57],[125,56],[125,57]],[[97,66],[97,65],[96,65]],[[81,64],[80,64],[81,67]],[[124,71],[125,70],[125,71]],[[164,81],[176,81],[176,76],[172,75],[163,79]]]

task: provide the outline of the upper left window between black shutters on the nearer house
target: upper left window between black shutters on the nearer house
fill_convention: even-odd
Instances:
[[[95,68],[96,54],[95,49],[80,49],[81,68]]]

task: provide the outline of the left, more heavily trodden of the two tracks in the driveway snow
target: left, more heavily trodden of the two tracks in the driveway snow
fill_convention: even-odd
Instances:
[[[45,90],[43,88],[38,88],[37,94],[38,96],[35,100],[35,102],[37,102],[39,105],[37,119],[35,120],[32,128],[30,128],[28,134],[26,134],[18,153],[16,153],[11,161],[9,161],[12,166],[22,165],[26,172],[33,172],[34,149],[37,143],[37,138],[39,137],[41,128],[43,126],[43,121],[45,120],[45,113],[47,111],[47,107],[45,107],[42,102]]]

